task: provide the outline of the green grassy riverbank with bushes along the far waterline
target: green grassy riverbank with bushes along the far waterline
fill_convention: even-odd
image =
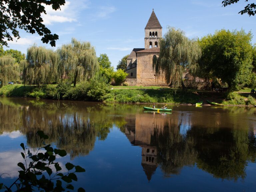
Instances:
[[[108,87],[91,90],[88,84],[77,87],[70,85],[44,85],[36,86],[7,85],[0,89],[1,96],[32,97],[42,99],[66,99],[84,101],[105,101],[125,103],[176,103],[195,104],[206,100],[222,103],[224,105],[255,105],[256,94],[247,92],[216,93],[213,91],[174,90],[160,87]],[[247,89],[246,89],[247,90]],[[90,94],[88,94],[90,92]]]

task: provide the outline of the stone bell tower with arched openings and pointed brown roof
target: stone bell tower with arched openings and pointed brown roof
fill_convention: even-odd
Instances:
[[[162,26],[153,9],[145,27],[145,49],[158,47],[160,38],[162,38]]]

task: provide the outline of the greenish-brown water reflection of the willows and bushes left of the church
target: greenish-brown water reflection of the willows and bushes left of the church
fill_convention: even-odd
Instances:
[[[16,106],[19,102],[13,101],[9,105],[8,102],[2,103],[2,98],[0,100],[0,133],[19,130],[27,136],[29,147],[37,148],[39,139],[36,132],[43,130],[49,135],[47,143],[65,149],[71,158],[88,154],[96,137],[106,139],[113,124],[121,127],[126,123],[125,105],[23,100]],[[126,108],[136,112],[134,107]]]

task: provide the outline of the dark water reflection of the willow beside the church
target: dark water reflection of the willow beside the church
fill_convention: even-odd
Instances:
[[[183,166],[193,165],[197,152],[193,138],[181,135],[180,125],[165,124],[162,131],[157,126],[151,136],[151,144],[157,147],[158,164],[166,176],[178,174]]]

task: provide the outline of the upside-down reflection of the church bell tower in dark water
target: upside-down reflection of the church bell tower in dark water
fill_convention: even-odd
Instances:
[[[152,175],[155,173],[157,168],[157,150],[153,146],[142,146],[142,161],[141,165],[145,174],[147,175],[148,181],[151,180]]]

